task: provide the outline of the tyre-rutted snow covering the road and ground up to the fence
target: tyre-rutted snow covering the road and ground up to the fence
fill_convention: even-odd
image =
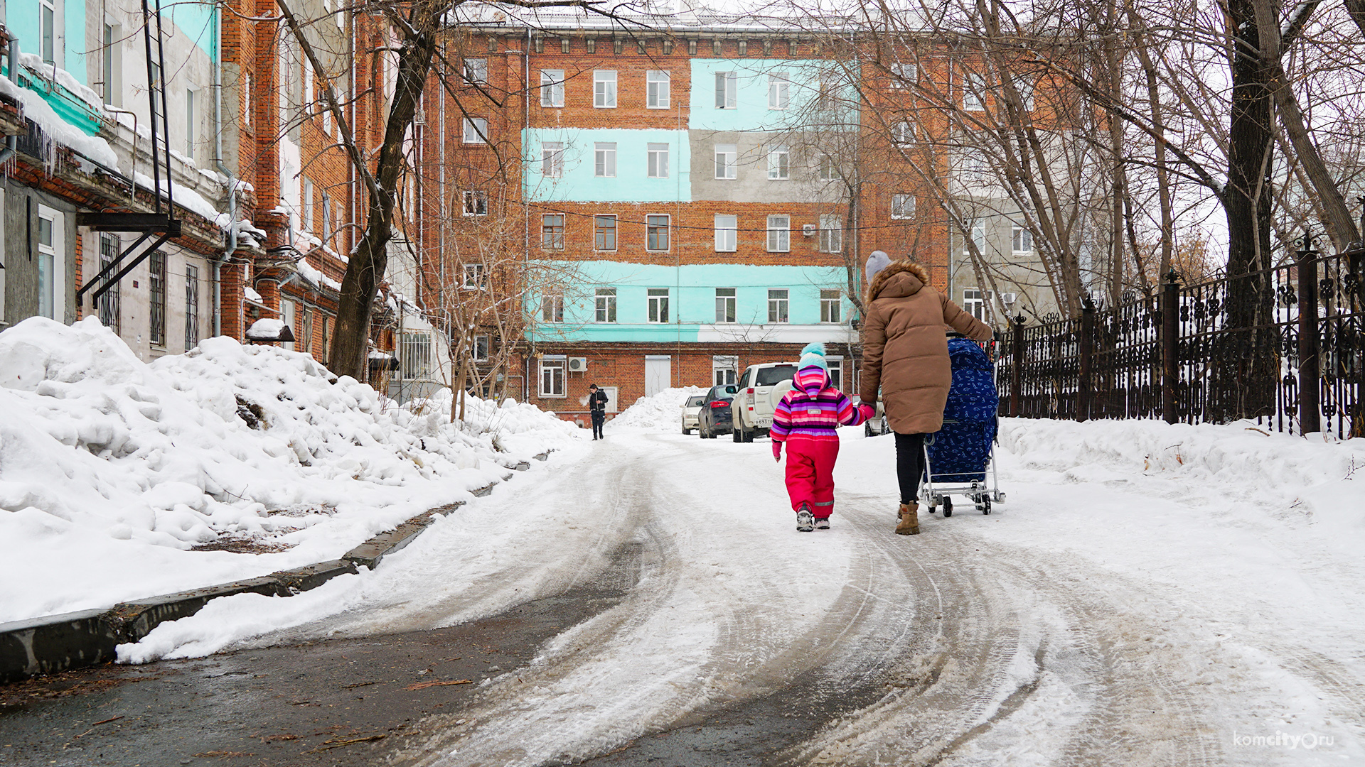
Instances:
[[[1365,763],[1362,441],[1005,420],[1009,500],[921,512],[923,535],[901,538],[891,438],[844,429],[834,527],[801,534],[767,446],[677,434],[678,399],[375,572],[217,599],[120,656],[453,625],[629,555],[621,603],[425,722],[408,756],[562,763],[814,673],[886,693],[809,733],[796,763]]]

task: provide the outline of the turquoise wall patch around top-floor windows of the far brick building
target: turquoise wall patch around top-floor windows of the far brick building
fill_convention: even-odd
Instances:
[[[829,63],[812,59],[692,59],[688,127],[704,131],[782,131],[809,126]],[[736,108],[717,109],[715,74],[736,72]],[[786,72],[786,109],[768,109],[768,75]],[[834,121],[856,123],[852,112]],[[824,123],[827,124],[827,119]]]

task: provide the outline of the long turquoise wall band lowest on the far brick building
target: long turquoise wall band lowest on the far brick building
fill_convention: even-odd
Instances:
[[[845,285],[845,273],[833,266],[756,266],[747,263],[706,263],[657,266],[592,261],[565,265],[581,274],[579,295],[565,299],[564,326],[560,330],[536,330],[536,340],[591,341],[695,341],[698,326],[715,322],[715,288],[734,288],[736,321],[767,322],[768,288],[789,291],[792,325],[820,321],[820,289]],[[594,322],[594,292],[598,287],[616,288],[616,323]],[[669,325],[648,322],[648,288],[669,288]],[[539,296],[530,296],[532,307]],[[841,317],[848,321],[853,304],[842,300]],[[536,314],[538,317],[538,314]],[[553,326],[551,326],[553,328]]]

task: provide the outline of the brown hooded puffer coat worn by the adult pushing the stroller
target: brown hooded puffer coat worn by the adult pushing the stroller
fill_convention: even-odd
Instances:
[[[973,341],[991,329],[928,287],[930,276],[912,261],[893,261],[872,278],[863,321],[864,403],[882,403],[891,431],[928,434],[943,426],[943,405],[953,385],[947,325]]]

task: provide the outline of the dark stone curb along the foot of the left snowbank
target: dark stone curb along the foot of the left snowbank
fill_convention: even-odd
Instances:
[[[551,452],[546,450],[535,456],[535,460],[547,460]],[[527,471],[531,464],[520,461],[511,468]],[[509,474],[502,480],[511,478]],[[475,498],[482,498],[493,493],[495,484],[497,482],[491,482],[471,493]],[[438,516],[449,515],[463,505],[464,501],[456,501],[422,512],[351,549],[339,560],[177,594],[120,602],[105,610],[79,610],[0,624],[0,684],[111,662],[119,644],[138,641],[167,621],[187,618],[218,596],[233,594],[293,596],[340,575],[356,573],[360,566],[374,569],[384,557],[412,543]]]

